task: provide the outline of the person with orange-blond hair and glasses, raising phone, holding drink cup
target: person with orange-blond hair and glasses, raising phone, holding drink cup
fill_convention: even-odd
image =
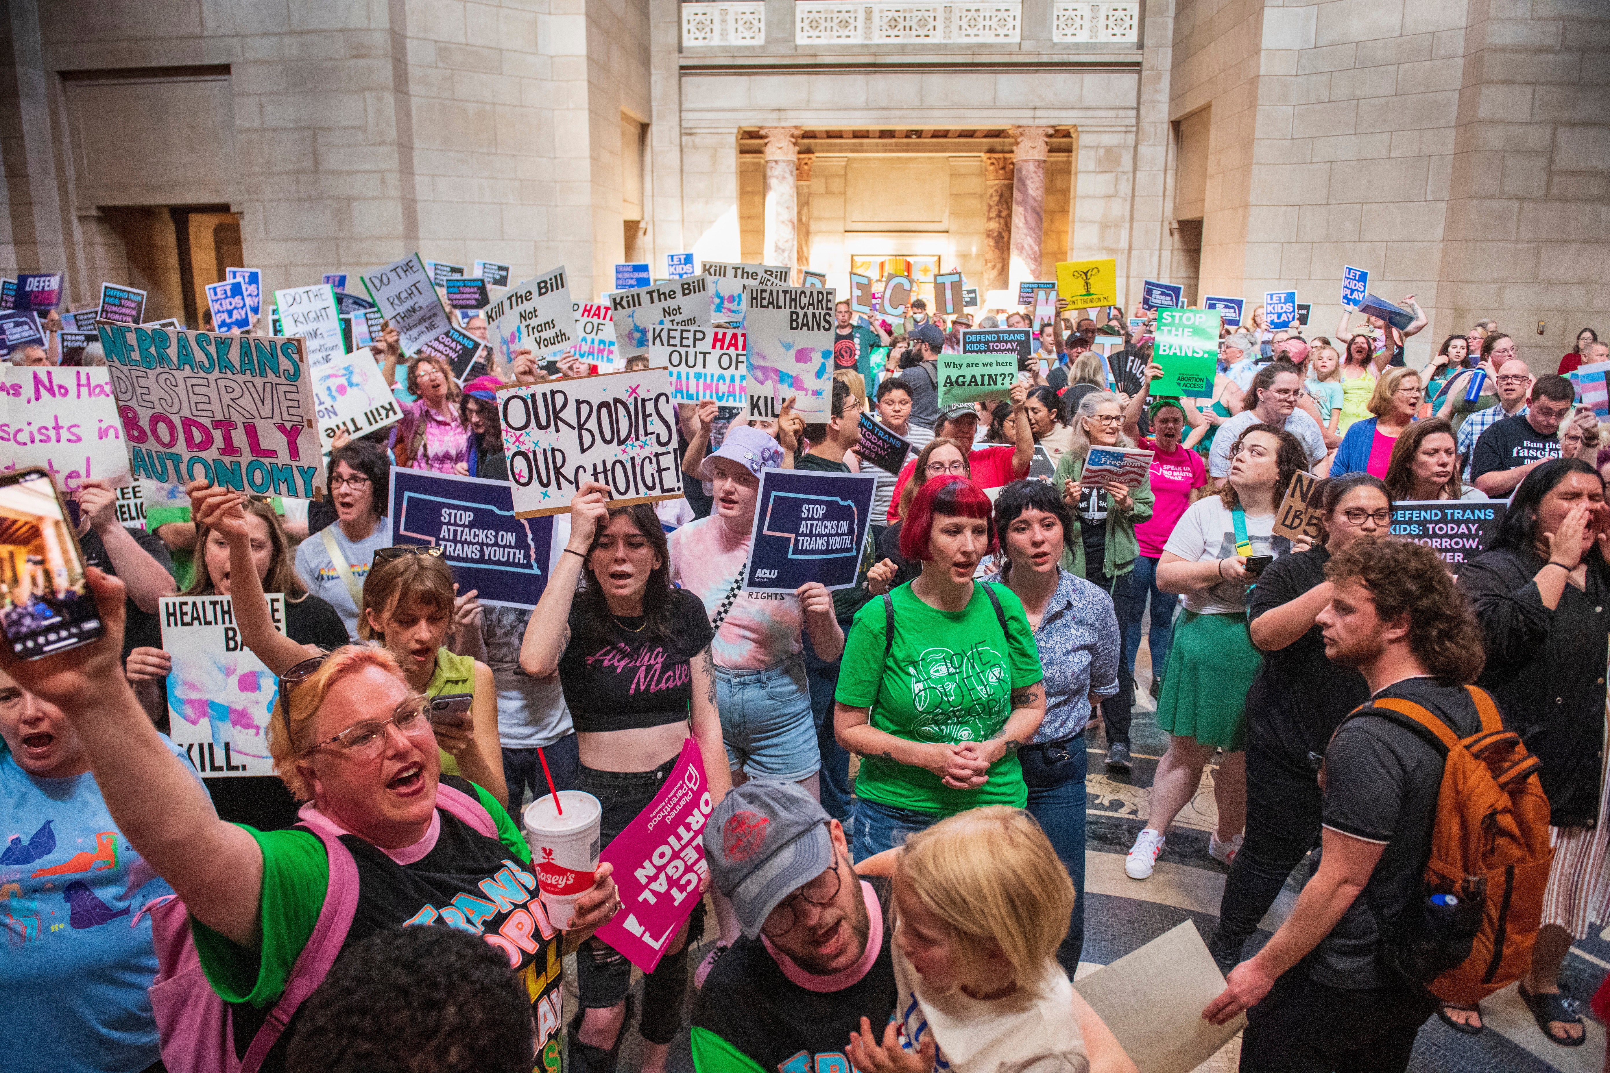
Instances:
[[[221,505],[221,497],[211,499],[214,508]],[[238,504],[227,513],[243,529]],[[221,528],[217,518],[206,521]],[[222,529],[230,528],[225,520]],[[243,571],[232,563],[232,573],[238,586]],[[308,803],[301,824],[258,832],[221,820],[195,771],[174,754],[124,682],[122,582],[93,568],[87,574],[105,635],[43,660],[0,653],[0,668],[61,711],[82,742],[119,841],[138,846],[143,862],[182,899],[153,912],[188,915],[204,978],[230,1007],[237,1054],[246,1052],[283,996],[320,922],[335,870],[335,890],[356,899],[332,907],[328,917],[349,920],[346,944],[406,923],[438,923],[496,946],[530,994],[531,1065],[559,1068],[560,964],[618,912],[610,865],[597,869],[568,922],[549,923],[518,827],[493,793],[440,774],[425,698],[386,650],[362,645],[288,668],[293,674],[280,682],[269,748],[275,771]],[[138,904],[150,907],[151,893],[151,886],[142,890]],[[98,922],[92,931],[127,933],[134,915],[108,914],[127,912],[132,902],[100,909],[85,901],[89,919]],[[320,994],[314,991],[304,1009]],[[58,993],[52,999],[63,1005]],[[285,1070],[296,1028],[293,1015],[261,1070]],[[47,1023],[35,1030],[45,1031]],[[97,1057],[105,1060],[105,1054]]]

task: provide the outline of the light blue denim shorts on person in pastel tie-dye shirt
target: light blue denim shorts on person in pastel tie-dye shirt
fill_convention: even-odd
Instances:
[[[733,771],[750,779],[799,782],[821,769],[802,656],[765,671],[716,666],[715,693]]]

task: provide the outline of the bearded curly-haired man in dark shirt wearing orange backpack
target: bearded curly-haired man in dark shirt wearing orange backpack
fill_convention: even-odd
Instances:
[[[1438,999],[1526,972],[1549,872],[1538,761],[1504,730],[1475,618],[1441,557],[1364,537],[1325,568],[1325,656],[1370,703],[1320,774],[1322,856],[1296,909],[1203,1017],[1248,1013],[1243,1073],[1406,1070]]]

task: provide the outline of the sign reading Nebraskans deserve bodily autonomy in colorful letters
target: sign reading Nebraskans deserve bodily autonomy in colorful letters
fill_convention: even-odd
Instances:
[[[108,323],[100,336],[134,476],[298,499],[324,487],[301,339]]]

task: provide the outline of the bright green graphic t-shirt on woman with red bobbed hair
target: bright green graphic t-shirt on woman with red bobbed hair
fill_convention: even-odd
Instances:
[[[1005,637],[982,584],[972,586],[964,611],[939,611],[923,603],[910,584],[900,586],[890,594],[895,640],[887,660],[884,602],[868,600],[844,647],[836,700],[871,708],[873,727],[908,742],[998,737],[1011,716],[1011,692],[1034,685],[1045,672],[1022,603],[1005,586],[993,590],[1006,616]],[[1016,753],[995,761],[977,790],[953,790],[926,767],[866,756],[855,791],[868,801],[939,816],[1029,803]]]

